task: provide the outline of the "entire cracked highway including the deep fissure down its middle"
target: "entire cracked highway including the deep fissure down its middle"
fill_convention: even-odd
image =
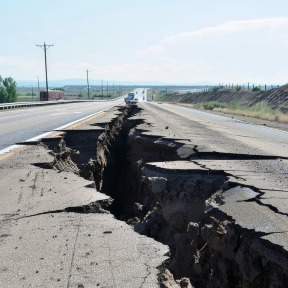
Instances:
[[[284,288],[285,125],[151,103],[144,91],[135,90],[140,109],[107,109],[119,100],[23,109],[6,119],[18,121],[7,136],[13,145],[13,135],[39,137],[107,111],[62,139],[0,155],[0,283],[150,288],[170,275],[166,287],[179,287],[174,276],[194,287]],[[103,123],[111,129],[99,130]],[[159,271],[164,262],[173,276]]]

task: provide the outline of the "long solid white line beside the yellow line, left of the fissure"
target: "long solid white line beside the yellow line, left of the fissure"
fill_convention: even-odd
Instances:
[[[112,105],[111,107],[108,107],[108,108],[106,108],[106,109],[104,109],[104,110],[102,110],[102,111],[99,111],[99,112],[97,112],[97,113],[93,113],[93,114],[88,115],[88,116],[86,116],[86,117],[83,117],[83,118],[81,118],[81,119],[79,119],[79,120],[76,120],[76,121],[73,121],[73,122],[68,123],[68,124],[66,124],[66,125],[63,125],[63,126],[61,126],[61,127],[55,128],[55,129],[53,129],[53,130],[50,131],[50,132],[46,132],[46,133],[43,133],[43,134],[38,135],[38,136],[36,136],[36,137],[33,137],[33,138],[28,139],[28,140],[22,141],[22,143],[31,142],[31,141],[38,141],[38,140],[40,140],[41,138],[44,138],[44,137],[47,137],[47,136],[50,136],[50,135],[54,134],[55,131],[57,131],[57,130],[63,130],[63,129],[65,129],[65,128],[69,127],[69,126],[72,126],[73,124],[76,124],[76,123],[78,123],[78,122],[80,122],[80,121],[83,121],[83,120],[85,120],[85,119],[87,119],[87,118],[90,118],[90,117],[92,117],[92,116],[94,116],[94,115],[97,115],[97,114],[99,114],[99,113],[102,113],[102,112],[104,112],[104,111],[106,111],[106,110],[108,110],[108,109],[113,108],[113,107],[116,106],[116,105],[119,105],[119,104],[120,104],[120,103],[118,102],[118,103]],[[20,148],[22,148],[22,147],[25,147],[25,145],[12,145],[12,146],[9,146],[9,147],[7,147],[7,148],[5,148],[5,149],[0,150],[0,155],[5,155],[5,154],[7,154],[7,153],[9,153],[9,152],[15,151],[15,150],[20,149]]]

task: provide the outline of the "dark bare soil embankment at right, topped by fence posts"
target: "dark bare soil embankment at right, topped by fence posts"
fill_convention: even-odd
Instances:
[[[279,88],[266,90],[266,91],[255,91],[244,90],[228,90],[219,89],[217,91],[203,92],[199,94],[173,94],[166,98],[165,102],[170,103],[186,103],[196,104],[199,102],[217,101],[220,103],[226,103],[232,105],[235,102],[239,106],[252,107],[261,101],[267,101],[268,105],[272,108],[281,107],[282,112],[288,112],[288,85],[283,85]]]

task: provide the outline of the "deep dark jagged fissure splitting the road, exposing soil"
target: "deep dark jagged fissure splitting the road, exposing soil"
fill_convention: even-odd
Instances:
[[[58,138],[42,139],[40,145],[49,147],[55,160],[37,165],[94,180],[95,188],[114,199],[106,209],[116,218],[168,245],[169,259],[159,267],[161,287],[288,286],[283,249],[218,209],[239,191],[247,193],[246,201],[258,201],[257,189],[199,164],[197,146],[187,139],[145,134],[137,128],[141,109],[119,109],[96,130],[65,130]],[[235,159],[215,153],[202,157]]]

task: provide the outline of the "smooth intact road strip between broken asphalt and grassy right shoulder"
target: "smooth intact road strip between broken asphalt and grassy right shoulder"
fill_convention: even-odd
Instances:
[[[209,129],[245,142],[249,146],[266,152],[267,155],[288,157],[288,133],[285,131],[170,104],[153,105],[158,105],[179,116],[200,122]]]

